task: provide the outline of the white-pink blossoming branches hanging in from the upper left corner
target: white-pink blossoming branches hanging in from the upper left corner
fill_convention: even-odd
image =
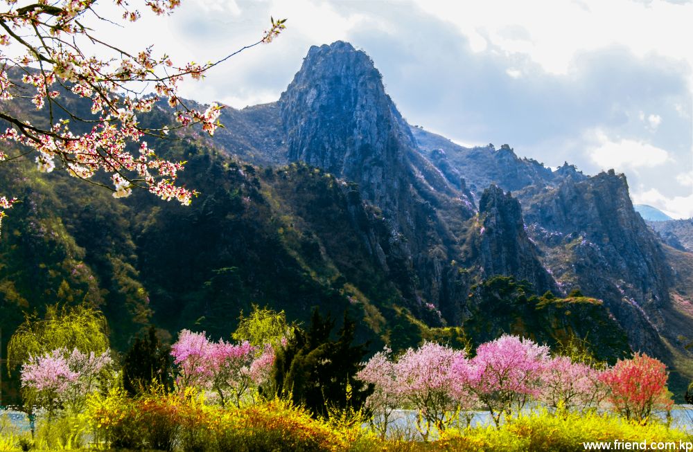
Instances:
[[[114,197],[145,188],[161,199],[188,205],[196,193],[176,182],[183,162],[160,158],[143,141],[146,135],[168,134],[169,127],[141,127],[137,114],[167,100],[175,127],[198,124],[213,134],[221,107],[212,104],[202,111],[186,105],[177,96],[180,82],[199,79],[236,53],[271,42],[283,30],[284,20],[272,19],[258,42],[217,62],[176,64],[168,55],[155,55],[152,47],[133,53],[106,42],[93,24],[137,21],[137,4],[167,15],[180,0],[111,1],[120,17],[105,17],[96,0],[0,0],[0,119],[8,125],[0,130],[0,167],[30,157],[39,170],[51,172],[58,166],[73,177],[109,188]],[[67,91],[89,101],[91,117],[81,117],[69,107],[64,101]],[[43,110],[47,125],[30,122],[26,107],[17,107],[23,98]],[[137,146],[128,146],[132,142]],[[107,174],[112,186],[91,179],[99,172]],[[0,192],[0,220],[15,202],[10,193]]]

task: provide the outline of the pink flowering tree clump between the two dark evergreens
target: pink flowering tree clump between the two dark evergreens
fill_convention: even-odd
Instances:
[[[222,406],[229,402],[240,406],[244,399],[253,399],[253,388],[264,386],[270,379],[274,349],[267,344],[258,353],[257,348],[247,341],[213,342],[204,332],[184,329],[171,347],[179,372],[177,385],[209,390]]]

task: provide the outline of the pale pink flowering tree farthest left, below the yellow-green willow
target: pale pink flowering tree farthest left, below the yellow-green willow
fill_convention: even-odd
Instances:
[[[111,363],[109,351],[84,354],[77,349],[58,349],[33,356],[21,366],[25,401],[46,408],[49,417],[62,407],[79,413],[87,396],[98,389],[98,380]]]

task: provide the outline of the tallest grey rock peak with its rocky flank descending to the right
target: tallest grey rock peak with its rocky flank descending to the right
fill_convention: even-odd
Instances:
[[[279,100],[287,156],[356,182],[390,225],[393,253],[411,264],[414,304],[454,305],[449,262],[474,215],[471,195],[417,151],[381,79],[351,44],[310,48]]]

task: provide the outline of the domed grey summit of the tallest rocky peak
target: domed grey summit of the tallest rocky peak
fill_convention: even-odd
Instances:
[[[351,44],[310,48],[279,102],[288,159],[356,181],[368,199],[382,197],[387,171],[412,147],[382,76]]]

